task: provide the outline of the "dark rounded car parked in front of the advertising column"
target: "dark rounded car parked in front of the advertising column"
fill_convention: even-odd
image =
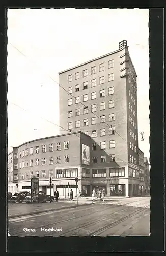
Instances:
[[[54,197],[51,196],[51,201],[54,200]],[[27,195],[24,200],[22,201],[22,203],[40,203],[40,202],[47,202],[50,201],[50,195],[47,195],[46,193],[44,193],[43,191],[39,191],[39,197],[38,196],[32,196],[31,198],[31,194]]]

